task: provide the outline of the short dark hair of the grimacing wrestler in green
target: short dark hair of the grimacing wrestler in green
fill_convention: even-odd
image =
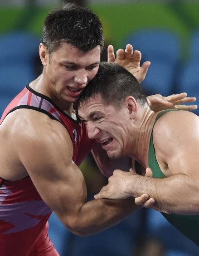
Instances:
[[[119,107],[128,96],[133,96],[141,105],[147,104],[146,95],[139,82],[130,72],[116,63],[101,62],[97,75],[83,89],[78,107],[90,98],[102,97],[107,105]]]

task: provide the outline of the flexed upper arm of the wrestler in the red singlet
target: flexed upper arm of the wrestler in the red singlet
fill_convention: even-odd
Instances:
[[[20,158],[41,198],[66,223],[86,200],[86,185],[72,160],[73,144],[68,133],[48,134],[39,143],[34,138],[24,143]]]

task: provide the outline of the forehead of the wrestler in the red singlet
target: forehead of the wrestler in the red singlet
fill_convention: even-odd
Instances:
[[[83,52],[80,51],[77,47],[63,43],[56,51],[53,52],[53,55],[59,58],[61,61],[69,61],[77,64],[82,62],[100,61],[100,46],[96,46],[90,51]]]

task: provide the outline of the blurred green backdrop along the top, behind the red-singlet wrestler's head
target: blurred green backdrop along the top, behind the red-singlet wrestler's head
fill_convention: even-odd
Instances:
[[[0,8],[0,33],[23,29],[41,36],[44,18],[52,8],[48,7],[6,7]],[[115,48],[124,46],[124,39],[130,32],[142,28],[165,28],[174,31],[182,40],[182,59],[187,56],[189,36],[199,27],[198,1],[89,4],[102,20],[105,39]]]

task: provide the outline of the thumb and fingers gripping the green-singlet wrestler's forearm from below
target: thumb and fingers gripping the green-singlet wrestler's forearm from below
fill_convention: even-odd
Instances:
[[[145,176],[148,176],[150,178],[153,177],[153,172],[152,172],[152,170],[150,168],[146,168]],[[147,194],[144,194],[144,195],[147,195]],[[167,212],[165,210],[162,210],[162,209],[156,207],[155,206],[155,199],[154,198],[149,198],[149,195],[148,195],[148,198],[146,198],[146,199],[148,199],[148,200],[144,201],[143,200],[143,195],[141,195],[141,196],[135,198],[135,203],[136,203],[136,205],[140,205],[140,206],[145,207],[145,208],[152,208],[154,210],[170,214],[170,212]]]

